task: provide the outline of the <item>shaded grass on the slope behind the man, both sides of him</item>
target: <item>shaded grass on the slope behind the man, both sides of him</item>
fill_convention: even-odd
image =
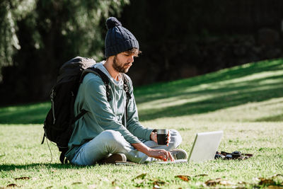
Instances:
[[[140,120],[208,113],[249,102],[267,101],[283,96],[283,59],[246,64],[190,79],[152,84],[136,88],[138,104],[149,103],[152,108],[139,110]],[[267,74],[266,74],[267,73]],[[278,74],[279,73],[279,74]],[[257,79],[256,74],[261,74]],[[266,74],[266,75],[265,75]],[[245,76],[255,79],[244,81]],[[235,79],[239,79],[238,81]],[[192,88],[195,88],[192,90]],[[202,100],[174,105],[174,101],[204,97]],[[170,99],[172,98],[172,99]],[[173,105],[158,108],[154,101]],[[157,107],[157,108],[156,108]],[[50,103],[0,108],[0,124],[42,124]],[[262,118],[258,121],[282,120],[282,116]]]

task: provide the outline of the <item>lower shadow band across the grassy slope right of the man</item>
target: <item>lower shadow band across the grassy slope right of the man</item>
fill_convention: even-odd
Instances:
[[[278,84],[280,88],[283,88],[283,84]],[[185,103],[183,105],[174,105],[167,108],[152,108],[139,111],[139,118],[141,120],[152,120],[156,118],[170,118],[181,115],[192,115],[200,113],[208,113],[215,110],[229,108],[236,105],[241,105],[250,102],[266,101],[270,98],[278,98],[283,96],[283,90],[279,91],[277,88],[257,90],[257,91],[238,91],[236,94],[220,94],[215,98],[209,98],[204,101],[197,101],[192,103]],[[278,117],[279,118],[279,117]],[[281,117],[280,117],[281,118]],[[275,121],[277,117],[265,118],[258,121]]]

